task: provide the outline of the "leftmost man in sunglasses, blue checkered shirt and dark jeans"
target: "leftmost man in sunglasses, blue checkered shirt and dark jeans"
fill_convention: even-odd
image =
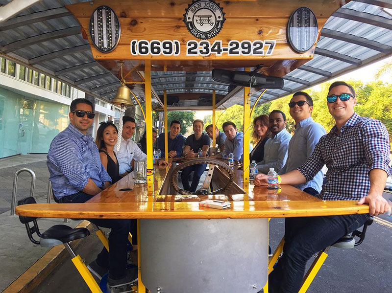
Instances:
[[[111,184],[112,179],[99,158],[98,147],[87,130],[93,124],[93,104],[87,99],[71,103],[71,123],[56,135],[48,152],[49,180],[57,203],[85,203]],[[126,269],[131,220],[89,219],[111,228],[109,251],[103,248],[89,266],[99,279],[109,270],[108,285],[117,287],[137,279],[137,269]]]

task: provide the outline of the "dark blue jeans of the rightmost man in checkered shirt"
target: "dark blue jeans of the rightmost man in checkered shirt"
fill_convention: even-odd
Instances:
[[[283,256],[269,276],[270,293],[298,293],[313,254],[364,225],[369,214],[286,218]]]

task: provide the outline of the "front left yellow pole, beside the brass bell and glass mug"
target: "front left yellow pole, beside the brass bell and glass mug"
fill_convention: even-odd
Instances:
[[[151,61],[145,61],[146,92],[146,138],[147,138],[147,170],[154,168],[152,163],[152,106],[151,106]],[[147,190],[152,191],[153,173],[147,172]]]

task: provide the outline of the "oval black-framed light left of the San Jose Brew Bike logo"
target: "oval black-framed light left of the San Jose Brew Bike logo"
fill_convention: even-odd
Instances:
[[[120,41],[119,18],[109,6],[99,6],[90,18],[90,36],[102,53],[113,51]]]

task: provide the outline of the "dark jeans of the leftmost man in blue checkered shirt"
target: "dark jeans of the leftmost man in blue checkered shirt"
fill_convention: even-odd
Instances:
[[[82,191],[65,198],[60,198],[59,203],[85,203],[93,196]],[[128,233],[131,231],[132,239],[137,239],[137,221],[123,219],[87,219],[91,223],[110,228],[109,251],[102,248],[97,256],[99,266],[109,269],[109,276],[112,279],[120,279],[125,276],[127,265]],[[133,234],[135,233],[135,234]]]

